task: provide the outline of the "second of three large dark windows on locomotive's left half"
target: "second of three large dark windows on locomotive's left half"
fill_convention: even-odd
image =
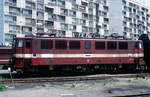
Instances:
[[[56,49],[67,49],[67,41],[65,40],[56,40],[55,41]]]

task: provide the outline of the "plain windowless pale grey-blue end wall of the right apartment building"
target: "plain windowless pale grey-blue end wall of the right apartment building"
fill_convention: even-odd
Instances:
[[[122,33],[122,0],[108,0],[110,33]]]

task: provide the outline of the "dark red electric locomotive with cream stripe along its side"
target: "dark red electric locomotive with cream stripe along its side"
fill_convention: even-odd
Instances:
[[[16,38],[13,52],[16,71],[132,71],[145,64],[141,40],[30,36]]]

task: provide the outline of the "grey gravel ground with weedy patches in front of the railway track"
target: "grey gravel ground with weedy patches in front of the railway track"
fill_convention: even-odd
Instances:
[[[110,97],[150,93],[150,78],[7,84],[0,97]]]

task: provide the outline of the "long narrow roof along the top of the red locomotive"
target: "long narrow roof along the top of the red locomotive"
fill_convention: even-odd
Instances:
[[[17,37],[18,39],[63,39],[63,40],[101,40],[101,41],[141,41],[131,39],[111,39],[111,38],[74,38],[74,37]]]

